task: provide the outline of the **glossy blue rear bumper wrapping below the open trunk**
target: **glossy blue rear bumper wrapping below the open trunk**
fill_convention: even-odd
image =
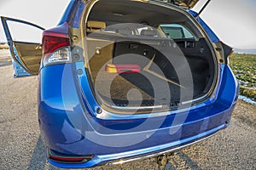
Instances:
[[[38,117],[42,139],[51,150],[93,157],[83,163],[63,163],[49,159],[56,167],[94,167],[176,150],[227,127],[236,105],[236,78],[227,65],[222,65],[218,94],[201,105],[191,106],[190,111],[178,114],[170,112],[168,116],[148,117],[146,120],[127,117],[119,121],[102,120],[96,118],[92,111],[97,106],[84,105],[90,101],[90,95],[86,95],[88,100],[81,102],[81,89],[74,83],[77,80],[74,80],[73,68],[74,65],[66,65],[65,68],[53,65],[41,71],[40,79],[49,79],[40,82],[39,88]],[[50,75],[49,72],[56,75],[46,76]],[[154,127],[159,119],[162,122]],[[146,121],[147,126],[140,130],[133,128]]]

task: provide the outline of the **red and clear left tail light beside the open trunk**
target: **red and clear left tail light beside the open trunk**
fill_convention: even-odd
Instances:
[[[70,40],[65,33],[44,31],[43,65],[56,65],[71,62]]]

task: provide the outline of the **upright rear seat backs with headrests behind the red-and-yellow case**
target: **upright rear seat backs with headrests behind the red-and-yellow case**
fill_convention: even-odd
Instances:
[[[133,37],[132,31],[128,29],[118,29],[116,31],[118,34],[104,32],[102,30],[106,27],[106,23],[99,21],[89,21],[87,26],[90,26],[86,30],[89,32],[87,51],[93,80],[96,79],[97,72],[101,69],[103,71],[107,64],[139,65],[143,69],[154,55],[156,55],[154,58],[156,65],[161,69],[169,67],[168,70],[172,70],[172,66],[167,64],[168,60],[163,58],[160,51],[173,48],[173,42],[156,37],[156,31],[143,30],[141,37]],[[99,32],[91,34],[94,31]]]

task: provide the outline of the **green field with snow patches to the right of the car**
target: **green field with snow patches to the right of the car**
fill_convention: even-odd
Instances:
[[[230,67],[240,83],[240,94],[256,100],[256,54],[232,54]]]

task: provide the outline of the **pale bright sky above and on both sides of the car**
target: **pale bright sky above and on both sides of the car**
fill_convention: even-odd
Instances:
[[[1,0],[0,15],[51,28],[61,20],[69,2],[70,0]],[[200,0],[193,9],[198,12],[206,2],[207,0]],[[255,8],[255,0],[212,0],[202,12],[201,18],[231,47],[256,48]],[[1,24],[0,42],[6,42]]]

